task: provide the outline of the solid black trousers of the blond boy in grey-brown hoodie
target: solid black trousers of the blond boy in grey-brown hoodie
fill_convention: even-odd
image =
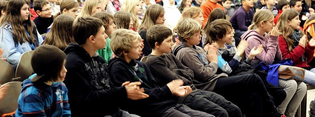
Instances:
[[[271,117],[277,112],[257,74],[219,78],[213,91],[237,105],[247,117]]]

